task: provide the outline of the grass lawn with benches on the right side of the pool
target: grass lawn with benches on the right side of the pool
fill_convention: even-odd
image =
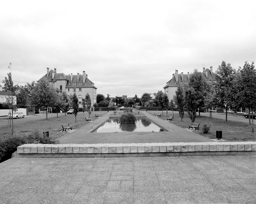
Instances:
[[[147,111],[151,115],[157,116],[157,114],[162,113],[162,111]],[[172,117],[172,111],[168,111],[168,117]],[[163,112],[161,119],[166,120],[166,111]],[[227,121],[222,119],[213,118],[212,120],[206,116],[198,116],[195,119],[196,123],[199,123],[199,131],[196,130],[194,133],[208,137],[210,139],[216,138],[216,131],[222,131],[222,139],[224,140],[256,140],[256,126],[254,126],[254,133],[252,133],[252,126],[249,126],[245,122],[237,121]],[[182,122],[180,121],[179,113],[174,112],[174,120],[171,123],[180,126],[181,128],[188,128],[188,124],[191,124],[188,113],[185,112]],[[207,134],[204,134],[200,127],[204,123],[210,124],[210,130]]]

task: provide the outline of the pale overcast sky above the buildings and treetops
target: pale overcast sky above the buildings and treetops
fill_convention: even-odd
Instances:
[[[83,72],[111,97],[163,90],[178,72],[256,59],[256,1],[2,1],[0,80]]]

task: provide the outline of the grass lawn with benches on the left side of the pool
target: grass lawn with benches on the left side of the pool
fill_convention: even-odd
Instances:
[[[97,120],[95,118],[95,113],[99,116],[102,116],[107,113],[107,111],[97,111],[92,112],[90,115],[91,120]],[[22,123],[14,123],[14,135],[28,135],[32,133],[33,131],[39,131],[42,133],[45,131],[49,131],[49,136],[57,139],[63,135],[66,135],[66,132],[62,132],[62,126],[63,124],[69,123],[69,125],[73,126],[72,129],[79,129],[81,126],[89,124],[86,123],[85,120],[83,120],[83,112],[79,112],[77,115],[77,122],[75,122],[75,116],[74,115],[68,115],[66,116],[64,114],[59,114],[59,118],[57,118],[57,114],[55,114],[56,117],[48,118],[46,120],[46,117],[41,120],[34,120],[34,121],[27,121]],[[88,113],[84,112],[84,116],[88,118]],[[31,116],[33,117],[33,116]],[[1,126],[1,137],[6,137],[11,135],[11,127],[7,126]]]

